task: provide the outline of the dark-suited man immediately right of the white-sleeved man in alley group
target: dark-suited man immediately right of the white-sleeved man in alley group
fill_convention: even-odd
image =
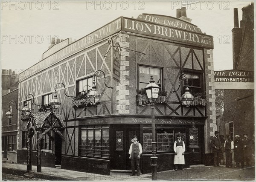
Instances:
[[[242,140],[240,138],[239,135],[236,135],[236,140],[234,142],[234,157],[235,157],[235,162],[236,162],[236,167],[239,168],[240,167],[240,162],[242,165],[242,159],[244,156],[244,151],[243,151],[243,144],[242,144]]]

